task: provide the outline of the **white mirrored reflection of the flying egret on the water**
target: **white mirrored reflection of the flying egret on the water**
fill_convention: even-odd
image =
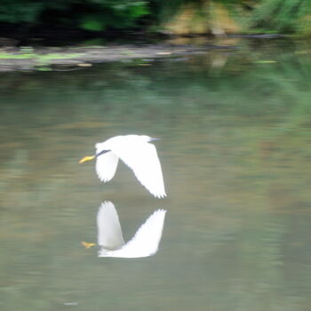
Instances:
[[[154,255],[158,249],[165,210],[151,214],[128,243],[124,243],[119,217],[113,203],[101,203],[97,213],[99,257],[140,258]]]

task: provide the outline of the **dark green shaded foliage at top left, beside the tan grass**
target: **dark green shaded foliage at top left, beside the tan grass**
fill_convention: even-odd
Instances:
[[[0,22],[106,30],[133,28],[148,14],[148,2],[141,0],[4,0]]]

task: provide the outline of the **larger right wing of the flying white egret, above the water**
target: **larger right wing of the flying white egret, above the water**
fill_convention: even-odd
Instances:
[[[149,143],[133,144],[131,148],[114,149],[134,172],[140,183],[156,197],[166,196],[161,163],[156,153],[156,147]]]

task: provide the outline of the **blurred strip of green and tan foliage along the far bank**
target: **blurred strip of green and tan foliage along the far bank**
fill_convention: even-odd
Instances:
[[[177,35],[311,34],[309,0],[3,0],[0,23],[91,31],[139,29]]]

